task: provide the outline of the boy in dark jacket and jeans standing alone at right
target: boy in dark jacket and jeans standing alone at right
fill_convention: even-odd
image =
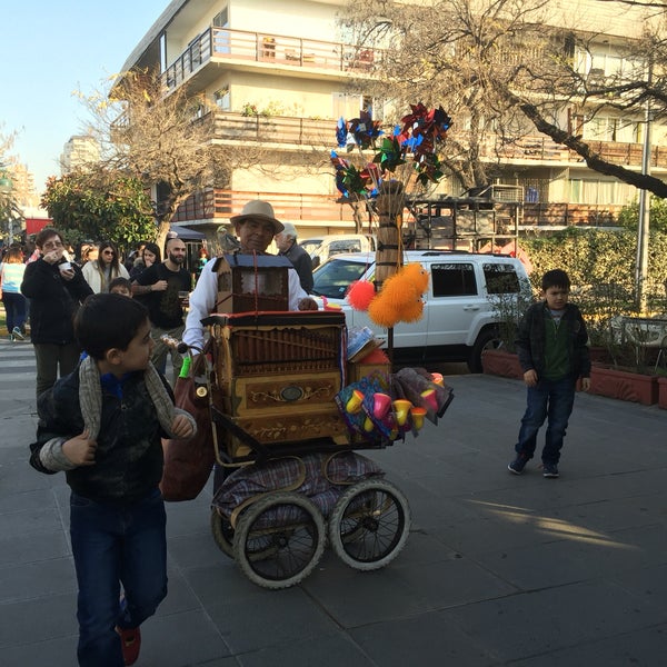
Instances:
[[[542,301],[528,308],[519,323],[516,347],[527,386],[527,408],[521,419],[516,458],[507,468],[520,475],[532,458],[537,432],[548,416],[542,475],[558,477],[560,449],[575,402],[575,387],[590,386],[588,334],[579,309],[568,303],[570,280],[561,269],[547,271]]]

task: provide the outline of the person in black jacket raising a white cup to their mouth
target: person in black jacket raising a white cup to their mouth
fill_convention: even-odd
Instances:
[[[41,257],[26,267],[21,292],[30,299],[30,337],[37,360],[37,396],[70,374],[81,350],[72,318],[92,293],[81,269],[64,255],[62,235],[52,227],[34,240]]]

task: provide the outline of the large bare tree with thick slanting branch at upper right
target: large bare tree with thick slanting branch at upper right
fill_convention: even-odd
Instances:
[[[600,6],[610,2],[616,0]],[[617,4],[619,14],[653,16],[653,28],[645,24],[640,39],[627,41],[625,62],[633,67],[601,79],[576,58],[599,34],[554,21],[546,0],[369,0],[350,3],[344,22],[359,44],[382,49],[374,70],[378,94],[390,90],[397,108],[417,100],[441,103],[454,118],[441,159],[462,188],[490,182],[507,147],[537,129],[590,169],[666,197],[663,180],[605,159],[583,140],[581,123],[604,110],[643,119],[648,100],[655,118],[667,110],[665,4]]]

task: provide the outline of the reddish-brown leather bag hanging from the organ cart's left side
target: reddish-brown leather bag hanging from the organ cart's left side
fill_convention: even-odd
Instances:
[[[209,397],[203,371],[205,356],[190,366],[187,378],[178,378],[173,388],[178,408],[187,410],[197,421],[197,435],[189,440],[162,439],[165,469],[160,490],[165,500],[192,500],[205,487],[216,452],[209,411]]]

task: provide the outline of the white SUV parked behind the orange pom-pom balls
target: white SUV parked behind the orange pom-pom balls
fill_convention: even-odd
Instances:
[[[354,310],[345,300],[355,280],[374,280],[375,252],[337,255],[313,272],[312,293],[342,307],[348,328],[381,329],[367,312]],[[516,258],[438,250],[411,250],[405,261],[420,262],[429,271],[424,295],[424,317],[394,328],[397,357],[428,361],[466,361],[481,371],[481,352],[499,345],[499,322],[507,315],[495,306],[497,298],[512,301],[516,313],[531,299],[524,265]],[[516,299],[514,298],[516,296]]]

